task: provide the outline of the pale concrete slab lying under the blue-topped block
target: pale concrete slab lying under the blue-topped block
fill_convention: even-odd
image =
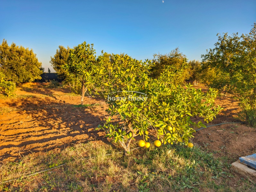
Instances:
[[[249,168],[247,165],[236,161],[231,164],[233,170],[248,178],[251,182],[256,183],[256,170]]]

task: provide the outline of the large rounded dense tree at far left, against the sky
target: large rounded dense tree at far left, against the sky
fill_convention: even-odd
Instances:
[[[9,46],[6,40],[0,45],[0,69],[6,81],[19,84],[41,79],[41,66],[32,49],[16,46],[15,43]]]

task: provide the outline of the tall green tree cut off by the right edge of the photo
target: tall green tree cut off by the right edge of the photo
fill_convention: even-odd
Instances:
[[[239,99],[244,117],[256,127],[256,23],[249,34],[219,34],[214,49],[202,55],[204,68],[214,70],[211,87]]]

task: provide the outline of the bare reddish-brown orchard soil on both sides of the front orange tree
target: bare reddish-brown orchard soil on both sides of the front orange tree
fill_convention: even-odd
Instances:
[[[0,99],[0,160],[15,161],[23,155],[58,149],[72,143],[101,140],[105,133],[94,131],[107,117],[106,104],[95,98],[72,96],[68,89],[44,88],[42,83],[27,83],[16,92],[15,98]],[[196,86],[206,90],[203,85]],[[222,96],[216,104],[224,111],[208,125],[239,122],[238,103]],[[192,142],[235,161],[240,156],[255,153],[256,129],[243,124],[225,124],[202,129]]]

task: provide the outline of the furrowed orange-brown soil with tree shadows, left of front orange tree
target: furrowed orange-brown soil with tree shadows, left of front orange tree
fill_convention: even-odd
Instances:
[[[70,104],[69,99],[62,102],[52,97],[29,97],[6,102],[19,110],[1,117],[0,160],[17,160],[21,155],[91,140],[111,144],[104,137],[105,132],[94,130],[108,117],[107,105],[99,99],[85,98],[90,104],[79,106]]]

